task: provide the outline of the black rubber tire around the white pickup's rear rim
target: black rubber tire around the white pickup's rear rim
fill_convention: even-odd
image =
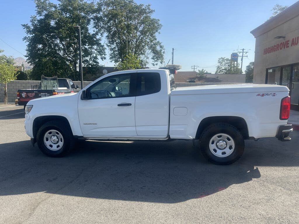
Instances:
[[[228,152],[228,156],[226,156],[225,152],[222,152],[221,148],[216,148],[216,149],[211,149],[210,150],[210,141],[211,144],[214,144],[213,142],[213,137],[217,134],[226,134],[228,136],[231,136],[233,142],[234,142],[234,150],[232,152],[229,151]],[[221,135],[217,136],[220,137]],[[220,140],[219,140],[220,141]],[[228,141],[231,141],[230,138],[228,138]],[[217,142],[216,142],[217,143]],[[227,145],[226,147],[230,147],[228,146],[229,143],[225,142],[225,145]],[[222,145],[220,145],[222,146]],[[231,163],[236,162],[243,154],[244,152],[244,138],[242,136],[242,134],[240,133],[240,131],[234,127],[233,125],[227,124],[227,123],[215,123],[215,124],[211,124],[209,125],[207,128],[205,128],[205,130],[202,132],[200,138],[199,138],[199,147],[200,147],[200,151],[202,152],[202,155],[210,162],[213,162],[217,165],[229,165]],[[216,146],[218,147],[218,146]],[[225,147],[225,146],[223,146]],[[225,149],[227,149],[225,147]],[[211,146],[211,148],[214,148],[213,146]],[[230,148],[228,148],[230,149]],[[214,153],[212,153],[212,150],[214,150],[215,154],[216,152],[218,154],[220,153],[224,153],[223,156],[225,157],[219,157],[216,156]],[[231,154],[229,154],[231,153]]]

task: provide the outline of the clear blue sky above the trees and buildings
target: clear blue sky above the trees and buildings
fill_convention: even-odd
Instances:
[[[191,70],[192,65],[214,73],[219,57],[230,57],[237,49],[249,51],[243,60],[243,71],[254,61],[255,39],[251,30],[265,22],[272,14],[275,4],[292,5],[295,0],[251,0],[251,1],[192,1],[192,0],[135,0],[137,3],[151,4],[154,17],[163,25],[158,39],[164,44],[165,61],[171,59],[172,47],[174,63],[182,65],[182,70]],[[9,56],[20,57],[26,53],[25,32],[21,27],[29,23],[35,14],[35,4],[31,0],[0,0],[0,49]],[[56,1],[53,1],[56,2]],[[21,53],[19,53],[19,52]],[[24,57],[24,56],[22,56]],[[170,61],[171,62],[171,61]],[[240,62],[240,61],[239,61]],[[109,60],[100,64],[113,66]]]

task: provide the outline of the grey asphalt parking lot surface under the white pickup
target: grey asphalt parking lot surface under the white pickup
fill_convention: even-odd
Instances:
[[[83,141],[33,147],[23,107],[0,106],[0,223],[298,223],[299,131],[245,141],[232,165],[198,142]]]

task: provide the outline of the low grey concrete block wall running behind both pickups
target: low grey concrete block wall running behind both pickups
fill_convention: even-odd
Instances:
[[[39,85],[40,81],[12,81],[7,84],[7,96],[8,102],[15,102],[17,99],[17,91],[19,89],[31,89],[31,85]],[[89,85],[91,82],[83,82],[83,88]],[[81,88],[81,82],[74,82],[75,85],[78,85]],[[185,83],[185,82],[176,82],[176,87],[186,87],[186,86],[202,86],[202,85],[216,85],[216,84],[234,84],[234,83]],[[122,86],[126,88],[125,86]],[[4,102],[4,84],[0,84],[0,103]]]

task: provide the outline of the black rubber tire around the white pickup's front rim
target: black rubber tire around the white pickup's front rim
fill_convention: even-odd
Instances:
[[[63,145],[57,150],[50,150],[44,143],[44,136],[50,130],[57,130],[63,136]],[[39,149],[47,156],[50,157],[63,157],[71,151],[73,148],[73,134],[69,128],[69,125],[62,121],[49,121],[43,124],[37,134],[36,142]]]

